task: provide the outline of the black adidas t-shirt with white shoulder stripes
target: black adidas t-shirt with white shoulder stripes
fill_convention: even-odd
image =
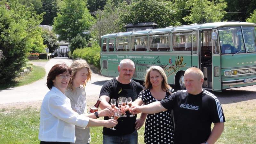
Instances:
[[[225,122],[218,98],[206,90],[197,95],[177,91],[160,103],[174,111],[175,144],[203,143],[211,134],[212,123]]]

